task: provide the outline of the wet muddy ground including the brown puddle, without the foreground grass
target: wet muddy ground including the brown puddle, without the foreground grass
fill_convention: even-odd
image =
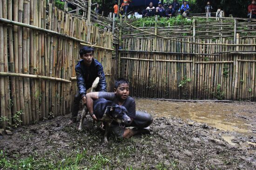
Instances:
[[[66,115],[14,130],[12,136],[0,139],[0,150],[9,160],[32,156],[53,164],[86,151],[78,169],[93,169],[95,156],[99,155],[107,160],[100,169],[256,169],[256,103],[148,99],[136,99],[136,103],[138,110],[154,115],[150,135],[124,140],[110,137],[108,145],[102,145],[104,132],[93,126],[91,118],[84,121],[83,131],[78,132],[78,123],[67,126],[70,115]],[[208,111],[209,114],[203,113]],[[216,128],[214,122],[226,122],[232,128]]]

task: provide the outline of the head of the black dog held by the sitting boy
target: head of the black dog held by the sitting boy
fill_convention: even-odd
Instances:
[[[113,120],[115,120],[122,128],[131,122],[131,118],[127,115],[128,111],[123,106],[108,106],[105,113],[108,114],[108,116],[110,116]]]

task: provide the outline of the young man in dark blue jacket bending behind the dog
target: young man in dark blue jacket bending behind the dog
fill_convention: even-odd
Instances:
[[[86,90],[92,87],[96,77],[99,77],[100,80],[95,91],[107,91],[107,83],[103,71],[103,66],[93,57],[94,48],[83,46],[79,53],[81,60],[75,66],[78,92],[74,96],[72,117],[68,125],[71,125],[76,121],[79,110],[79,103],[81,99],[84,104],[86,103]]]

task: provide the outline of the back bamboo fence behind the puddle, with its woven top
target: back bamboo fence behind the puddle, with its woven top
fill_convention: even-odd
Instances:
[[[255,21],[196,23],[195,17],[186,26],[156,23],[122,28],[119,74],[131,82],[131,95],[256,100]]]

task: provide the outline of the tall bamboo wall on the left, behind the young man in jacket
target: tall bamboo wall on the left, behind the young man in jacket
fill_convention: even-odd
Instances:
[[[88,1],[68,1],[78,5],[83,15],[57,9],[54,0],[48,4],[46,0],[0,0],[2,128],[70,113],[77,91],[74,67],[80,59],[80,43],[96,44],[94,57],[102,63],[109,85],[115,51],[112,30],[104,31],[85,19]]]

